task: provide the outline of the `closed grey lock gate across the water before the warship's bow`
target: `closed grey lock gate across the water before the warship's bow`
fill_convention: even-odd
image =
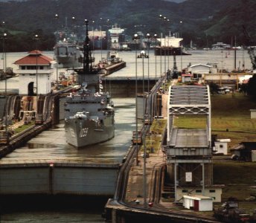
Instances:
[[[118,169],[100,167],[0,168],[0,195],[114,195]]]

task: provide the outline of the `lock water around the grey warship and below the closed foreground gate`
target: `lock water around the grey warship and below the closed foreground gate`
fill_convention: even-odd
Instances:
[[[37,135],[36,138],[29,140],[25,146],[14,150],[1,161],[12,164],[56,160],[104,164],[121,163],[131,145],[132,131],[135,130],[135,99],[114,98],[113,101],[115,103],[115,138],[112,140],[83,149],[75,149],[65,142],[62,121]],[[75,196],[57,196],[56,199],[19,196],[18,199],[13,197],[8,199],[15,203],[10,204],[10,201],[1,200],[1,223],[104,222],[101,214],[107,201],[107,198],[77,198]],[[5,204],[7,207],[4,207]]]

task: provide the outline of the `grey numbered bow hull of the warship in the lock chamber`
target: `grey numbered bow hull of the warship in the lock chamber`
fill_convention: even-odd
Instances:
[[[112,117],[105,121],[112,122]],[[94,120],[72,119],[65,121],[65,138],[67,143],[77,148],[102,143],[115,136],[114,125],[97,126]]]

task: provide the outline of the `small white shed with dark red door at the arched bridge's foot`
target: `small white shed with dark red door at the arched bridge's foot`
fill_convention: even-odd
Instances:
[[[183,195],[183,206],[196,211],[213,210],[214,198],[203,195]]]

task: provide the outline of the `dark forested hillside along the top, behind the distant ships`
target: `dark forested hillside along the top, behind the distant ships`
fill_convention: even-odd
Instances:
[[[255,36],[255,9],[255,0],[187,0],[180,3],[166,0],[8,1],[0,2],[0,21],[5,22],[0,32],[20,36],[40,30],[47,36],[65,25],[65,18],[68,25],[83,25],[84,19],[89,19],[95,20],[95,28],[106,29],[117,23],[126,28],[129,35],[136,31],[179,32],[185,45],[193,40],[198,47],[203,47],[206,38],[208,44],[228,43],[232,36],[236,36],[237,44],[243,44],[243,25],[252,37]],[[56,13],[58,20],[54,19]],[[170,22],[159,19],[160,14]],[[72,16],[75,21],[71,21]]]

